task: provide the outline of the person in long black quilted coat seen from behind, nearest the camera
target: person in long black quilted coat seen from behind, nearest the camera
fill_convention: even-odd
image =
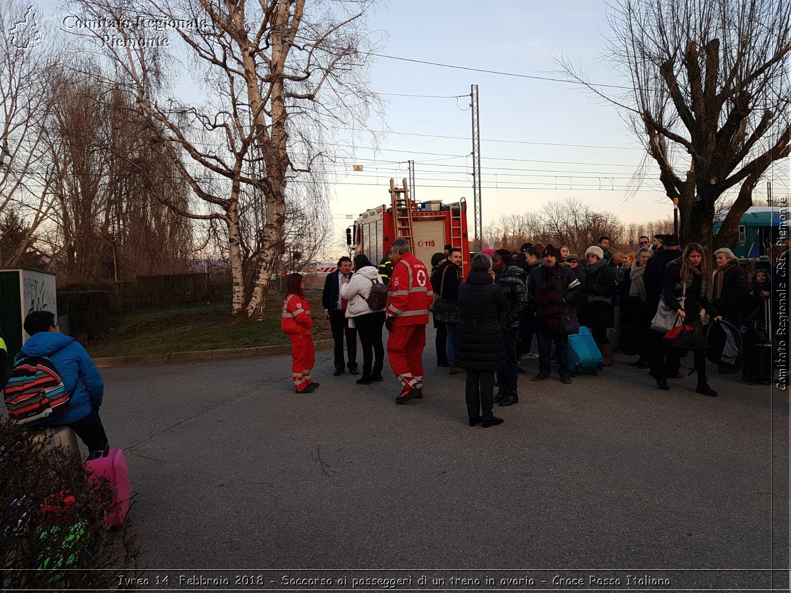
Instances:
[[[505,367],[505,341],[500,316],[508,309],[502,289],[494,284],[492,259],[476,254],[470,274],[459,287],[456,308],[456,365],[467,370],[467,414],[470,426],[479,422],[483,428],[502,423],[492,414],[494,372]]]

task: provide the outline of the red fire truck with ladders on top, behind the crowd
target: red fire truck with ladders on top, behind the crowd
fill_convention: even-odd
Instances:
[[[395,187],[390,179],[391,205],[377,206],[360,215],[354,225],[346,229],[346,243],[354,247],[354,254],[365,254],[374,266],[384,257],[393,240],[410,240],[414,255],[431,269],[431,256],[441,253],[445,245],[459,247],[462,255],[462,277],[470,269],[467,242],[467,202],[443,204],[441,200],[412,202],[403,179],[402,187]]]

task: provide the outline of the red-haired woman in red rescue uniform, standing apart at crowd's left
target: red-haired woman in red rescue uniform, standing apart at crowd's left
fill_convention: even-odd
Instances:
[[[310,380],[310,371],[316,362],[316,349],[313,348],[310,335],[313,320],[310,319],[310,304],[302,292],[304,288],[302,274],[288,275],[286,300],[283,301],[280,319],[280,329],[291,338],[291,378],[297,393],[310,393],[319,387],[319,383]]]

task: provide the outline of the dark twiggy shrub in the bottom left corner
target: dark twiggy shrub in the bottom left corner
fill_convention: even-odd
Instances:
[[[135,576],[129,519],[104,524],[111,501],[107,481],[89,482],[78,455],[45,451],[31,432],[0,422],[0,590],[108,590],[119,568]]]

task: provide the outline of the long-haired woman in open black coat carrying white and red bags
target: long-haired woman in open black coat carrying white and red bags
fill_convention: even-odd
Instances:
[[[688,244],[683,255],[668,263],[664,270],[662,283],[662,300],[673,311],[678,312],[684,325],[689,325],[702,331],[700,312],[706,309],[714,321],[722,319],[720,313],[706,296],[708,270],[706,259],[703,257],[703,247],[697,243]],[[686,291],[684,289],[686,286]],[[681,302],[683,296],[683,304]],[[663,345],[664,346],[664,345]],[[667,391],[667,377],[674,369],[679,368],[682,351],[670,346],[664,359],[664,365],[659,371],[653,373],[657,380],[657,387]],[[694,350],[694,368],[698,373],[698,387],[696,393],[717,397],[717,391],[709,387],[706,380],[706,350]]]

